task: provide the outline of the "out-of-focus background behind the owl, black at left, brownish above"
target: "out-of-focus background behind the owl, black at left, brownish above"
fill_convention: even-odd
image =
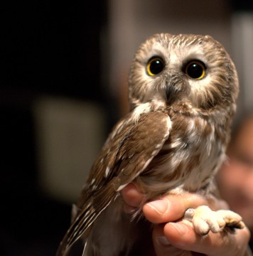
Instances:
[[[129,63],[151,33],[217,38],[239,63],[239,112],[253,102],[236,34],[245,15],[253,31],[250,2],[30,0],[0,12],[0,255],[55,255],[95,155],[128,110]]]

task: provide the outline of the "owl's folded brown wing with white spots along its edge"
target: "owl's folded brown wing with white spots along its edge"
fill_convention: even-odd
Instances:
[[[73,220],[58,249],[64,255],[107,208],[124,186],[134,180],[158,154],[171,130],[171,119],[163,112],[141,114],[138,122],[129,114],[113,129],[92,166]],[[86,235],[86,234],[85,234]]]

